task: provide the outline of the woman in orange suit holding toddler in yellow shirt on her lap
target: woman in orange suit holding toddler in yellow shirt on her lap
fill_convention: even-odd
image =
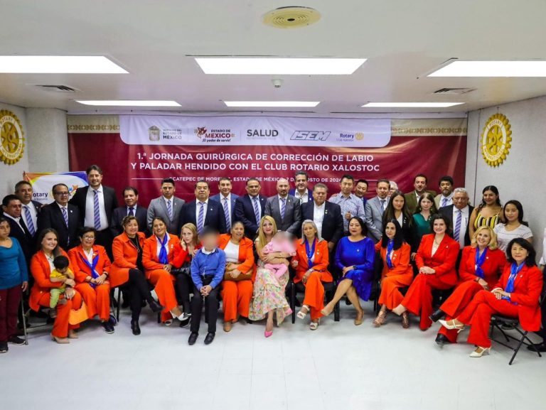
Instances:
[[[60,249],[58,245],[57,231],[52,228],[46,228],[41,231],[38,235],[38,244],[40,244],[41,249],[31,259],[31,273],[34,278],[34,286],[31,289],[31,297],[28,304],[33,311],[38,311],[40,306],[49,308],[50,288],[58,288],[65,284],[65,293],[60,297],[65,298],[66,303],[59,303],[57,305],[57,318],[55,318],[55,323],[53,323],[51,335],[55,342],[60,344],[69,343],[70,340],[68,339],[77,339],[75,329],[79,328],[80,325],[70,325],[68,317],[70,310],[77,310],[82,306],[82,296],[74,289],[74,286],[76,286],[74,279],[65,279],[62,282],[52,282],[49,280],[51,271],[55,269],[53,259],[60,255],[68,257],[66,252]],[[73,271],[72,266],[69,267]]]

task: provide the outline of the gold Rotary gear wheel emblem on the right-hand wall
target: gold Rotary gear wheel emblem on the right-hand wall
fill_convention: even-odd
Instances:
[[[510,153],[510,122],[503,114],[489,117],[481,133],[481,153],[489,166],[499,166]]]

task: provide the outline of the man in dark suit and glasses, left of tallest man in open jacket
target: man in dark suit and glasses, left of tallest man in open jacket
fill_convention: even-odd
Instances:
[[[70,193],[67,185],[58,183],[53,185],[52,190],[55,202],[42,207],[38,215],[38,231],[53,228],[59,234],[59,246],[68,250],[78,244],[78,234],[82,227],[80,210],[68,203]]]

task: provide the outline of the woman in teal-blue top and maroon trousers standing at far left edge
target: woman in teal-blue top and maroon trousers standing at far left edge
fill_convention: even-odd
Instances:
[[[0,217],[0,353],[8,351],[8,343],[23,345],[18,338],[17,309],[21,293],[28,286],[28,269],[21,245],[9,237],[9,222]]]

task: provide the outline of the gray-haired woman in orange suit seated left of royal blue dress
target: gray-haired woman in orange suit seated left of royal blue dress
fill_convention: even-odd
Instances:
[[[311,311],[309,328],[316,330],[324,308],[323,282],[333,281],[328,272],[328,242],[319,237],[315,222],[304,220],[301,224],[301,237],[296,244],[296,256],[292,258],[292,267],[296,269],[294,284],[305,286],[304,303],[298,312],[298,318],[304,319]]]

